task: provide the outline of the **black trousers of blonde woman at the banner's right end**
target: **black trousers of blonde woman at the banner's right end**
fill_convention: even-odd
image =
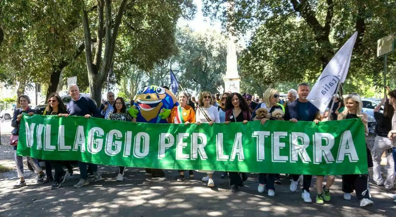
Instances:
[[[369,194],[369,175],[343,175],[343,192],[352,193],[353,190],[356,191],[356,196],[359,200],[363,198],[370,198]]]

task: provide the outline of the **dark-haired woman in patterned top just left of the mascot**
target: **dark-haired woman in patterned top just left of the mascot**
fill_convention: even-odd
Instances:
[[[126,111],[126,105],[124,98],[117,97],[113,103],[113,110],[107,116],[108,120],[119,120],[126,122],[136,122],[136,118],[133,118],[129,112]],[[120,166],[120,171],[116,177],[117,181],[124,180],[124,169],[125,167]]]

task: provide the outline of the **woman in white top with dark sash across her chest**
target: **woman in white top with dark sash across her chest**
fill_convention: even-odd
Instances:
[[[199,98],[199,105],[195,114],[196,124],[199,126],[201,123],[208,123],[212,126],[213,123],[220,123],[219,110],[217,107],[212,105],[212,98],[209,92],[202,92]],[[214,187],[215,183],[213,181],[214,171],[208,170],[197,170],[200,173],[206,173],[202,178],[202,181],[208,181],[208,187]]]

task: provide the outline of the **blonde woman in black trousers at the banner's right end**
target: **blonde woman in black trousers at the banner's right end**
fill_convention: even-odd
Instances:
[[[367,135],[369,132],[367,127],[367,114],[362,113],[363,103],[360,96],[356,93],[351,93],[345,98],[344,102],[346,109],[338,115],[337,120],[360,118],[362,119],[365,133]],[[366,149],[368,149],[367,146]],[[371,153],[369,150],[367,151],[367,164],[369,167],[373,166],[373,160],[371,159]],[[370,188],[368,174],[342,175],[342,178],[345,200],[350,200],[350,194],[355,190],[356,196],[360,200],[361,207],[373,206],[374,202],[369,199]]]

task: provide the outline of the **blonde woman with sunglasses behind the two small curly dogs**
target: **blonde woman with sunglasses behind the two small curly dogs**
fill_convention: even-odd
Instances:
[[[263,103],[257,105],[255,110],[258,108],[267,108],[268,114],[271,114],[275,109],[284,109],[278,102],[280,95],[276,89],[268,88],[263,94]],[[256,116],[256,112],[253,112],[252,119]],[[261,120],[261,124],[265,124],[266,119]],[[275,185],[274,183],[280,184],[279,174],[259,174],[259,187],[257,190],[263,193],[265,190],[268,192],[268,196],[275,196]],[[266,189],[265,189],[266,188]]]

